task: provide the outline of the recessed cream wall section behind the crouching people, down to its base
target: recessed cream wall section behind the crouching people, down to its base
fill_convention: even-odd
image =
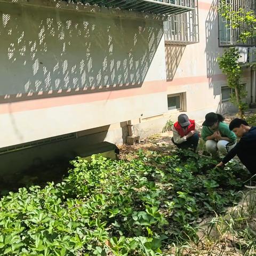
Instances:
[[[234,113],[237,108],[230,102],[221,102],[221,86],[227,86],[226,76],[218,67],[217,57],[225,48],[218,46],[217,1],[198,1],[199,43],[191,45],[165,45],[166,100],[168,94],[184,93],[185,108],[190,118],[202,121],[210,111],[223,115]],[[246,83],[248,103],[251,100],[251,71],[244,68],[242,83]],[[135,131],[142,137],[161,132],[166,121],[177,121],[181,111],[165,111],[137,121]]]

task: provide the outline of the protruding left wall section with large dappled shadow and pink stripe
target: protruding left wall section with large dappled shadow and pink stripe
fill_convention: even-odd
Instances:
[[[162,21],[20,3],[0,2],[0,147],[166,110]]]

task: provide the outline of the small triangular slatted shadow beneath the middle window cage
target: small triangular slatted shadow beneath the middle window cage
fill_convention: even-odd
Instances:
[[[166,79],[172,81],[186,45],[165,45]]]

